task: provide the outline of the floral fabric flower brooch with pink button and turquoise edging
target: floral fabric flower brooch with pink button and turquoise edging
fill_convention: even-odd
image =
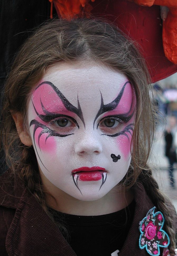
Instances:
[[[167,247],[170,239],[167,233],[162,229],[164,225],[164,216],[161,212],[154,212],[156,207],[150,209],[145,218],[139,223],[139,248],[146,249],[152,256],[160,255],[160,247]]]

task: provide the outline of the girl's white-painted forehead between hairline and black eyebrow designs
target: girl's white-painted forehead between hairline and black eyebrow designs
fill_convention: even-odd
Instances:
[[[74,104],[77,97],[85,102],[100,100],[100,92],[109,103],[128,79],[109,67],[60,63],[48,68],[44,81],[52,82]]]

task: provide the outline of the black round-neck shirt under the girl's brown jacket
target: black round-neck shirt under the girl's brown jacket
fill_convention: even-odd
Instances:
[[[50,209],[77,256],[117,256],[134,216],[134,200],[126,208],[106,215],[77,216]],[[64,230],[66,228],[66,230]]]

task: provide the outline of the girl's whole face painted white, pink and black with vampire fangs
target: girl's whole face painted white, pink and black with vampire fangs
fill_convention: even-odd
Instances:
[[[96,64],[49,68],[28,108],[41,174],[76,199],[102,198],[127,173],[135,112],[133,86],[118,71]]]

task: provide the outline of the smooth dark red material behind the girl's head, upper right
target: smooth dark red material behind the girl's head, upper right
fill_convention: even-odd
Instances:
[[[59,8],[56,5],[58,1],[53,1],[60,17]],[[63,2],[71,3],[72,1],[63,0]],[[79,0],[78,2],[80,4]],[[105,20],[114,22],[114,24],[118,25],[131,39],[135,40],[139,44],[142,56],[146,60],[152,82],[159,81],[177,72],[177,65],[171,63],[164,54],[160,6],[139,6],[134,2],[125,0],[95,0],[95,2],[85,2],[85,9],[83,9],[80,4],[79,7],[77,7],[78,9],[75,6],[75,13],[76,11],[79,13],[80,10],[81,12],[90,11],[91,15],[94,17],[102,17]],[[76,1],[74,1],[74,3],[76,4]],[[72,6],[68,7],[70,11],[71,7]],[[66,7],[63,8],[66,9]],[[61,15],[63,15],[63,12],[61,12]],[[169,26],[169,24],[166,24],[166,26]],[[167,29],[165,31],[167,31]],[[170,38],[172,38],[172,36],[173,35],[171,35]],[[169,38],[169,34],[165,34],[165,38]]]

